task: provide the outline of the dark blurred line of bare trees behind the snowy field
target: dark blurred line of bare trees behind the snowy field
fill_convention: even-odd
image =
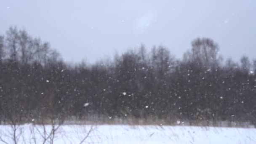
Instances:
[[[256,60],[224,60],[209,38],[182,59],[143,45],[112,61],[66,64],[40,38],[10,27],[0,36],[0,121],[127,117],[256,124]]]

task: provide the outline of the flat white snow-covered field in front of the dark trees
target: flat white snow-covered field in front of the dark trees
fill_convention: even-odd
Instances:
[[[50,130],[51,126],[45,128]],[[90,129],[92,131],[87,136]],[[0,125],[0,132],[2,140],[13,144],[9,137],[12,135],[10,126]],[[42,126],[22,125],[16,133],[19,135],[21,132],[18,144],[43,144]],[[83,144],[256,144],[256,128],[62,125],[55,136],[54,144],[80,144],[83,140]]]

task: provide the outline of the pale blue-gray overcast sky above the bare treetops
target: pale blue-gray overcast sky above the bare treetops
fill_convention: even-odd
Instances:
[[[225,58],[256,58],[256,0],[0,0],[0,34],[10,26],[50,42],[65,61],[141,43],[181,58],[196,37],[215,40]]]

